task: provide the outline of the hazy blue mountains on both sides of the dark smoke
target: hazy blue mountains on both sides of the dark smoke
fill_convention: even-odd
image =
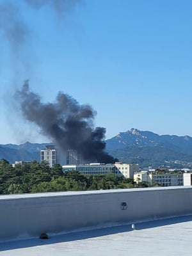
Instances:
[[[0,145],[0,159],[40,161],[40,149],[49,143]],[[150,131],[131,129],[106,140],[106,151],[124,163],[141,167],[192,168],[192,138],[190,136],[158,135]]]

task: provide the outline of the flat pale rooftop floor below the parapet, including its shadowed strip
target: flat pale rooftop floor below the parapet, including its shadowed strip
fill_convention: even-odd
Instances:
[[[192,215],[0,243],[0,255],[191,255]]]

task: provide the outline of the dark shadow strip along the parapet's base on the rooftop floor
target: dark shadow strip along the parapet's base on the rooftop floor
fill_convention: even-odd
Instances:
[[[147,228],[162,227],[166,225],[172,225],[172,224],[182,223],[187,221],[192,221],[192,215],[166,218],[163,220],[146,221],[146,222],[140,222],[140,223],[134,223],[134,224],[135,224],[136,230],[143,230]],[[17,241],[16,240],[6,241],[3,243],[0,242],[0,252],[6,251],[6,250],[15,250],[19,248],[40,246],[45,244],[63,243],[63,242],[76,241],[76,240],[88,239],[93,237],[108,236],[112,234],[129,232],[129,231],[132,231],[130,223],[124,224],[124,225],[116,225],[114,227],[105,227],[105,228],[97,228],[92,230],[83,230],[83,231],[65,233],[65,234],[50,236],[50,239],[31,238],[31,239],[24,239],[24,240],[17,240]]]

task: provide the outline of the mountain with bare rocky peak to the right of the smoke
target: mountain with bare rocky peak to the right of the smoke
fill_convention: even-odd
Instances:
[[[141,167],[192,168],[190,136],[159,135],[132,128],[106,140],[106,150],[119,161]]]

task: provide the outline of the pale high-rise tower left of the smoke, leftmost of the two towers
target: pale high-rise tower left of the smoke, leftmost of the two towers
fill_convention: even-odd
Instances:
[[[45,149],[41,149],[40,161],[41,163],[44,161],[47,162],[51,168],[54,164],[59,163],[60,159],[56,147],[54,145],[47,145]]]

